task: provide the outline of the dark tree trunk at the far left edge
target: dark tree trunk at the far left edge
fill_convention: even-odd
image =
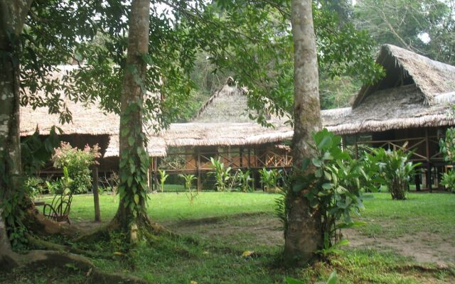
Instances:
[[[13,266],[4,202],[20,189],[19,35],[31,0],[0,0],[0,267]]]

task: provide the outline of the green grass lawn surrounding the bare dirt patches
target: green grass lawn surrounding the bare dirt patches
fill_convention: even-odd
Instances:
[[[415,263],[411,258],[380,248],[345,249],[331,263],[316,263],[305,269],[280,267],[282,232],[274,217],[274,200],[279,195],[265,193],[203,192],[190,204],[183,193],[150,195],[149,213],[174,231],[191,235],[198,245],[184,240],[156,237],[139,244],[129,256],[93,259],[104,271],[137,275],[151,283],[284,283],[291,276],[304,283],[323,282],[331,271],[338,283],[454,283],[454,268],[439,269],[431,263]],[[392,201],[385,193],[365,200],[361,217],[368,224],[357,230],[365,238],[398,238],[431,232],[453,244],[455,195],[411,194],[409,200]],[[91,196],[76,196],[71,217],[91,221]],[[117,209],[113,197],[102,195],[102,218]],[[106,248],[116,246],[115,239]],[[255,251],[243,258],[245,250]],[[49,279],[65,275],[58,281]],[[87,283],[84,271],[18,271],[0,274],[0,283]],[[68,278],[74,275],[74,278]],[[3,278],[2,278],[3,277]]]

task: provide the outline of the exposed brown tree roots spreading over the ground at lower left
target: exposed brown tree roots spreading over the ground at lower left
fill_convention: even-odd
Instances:
[[[38,236],[59,234],[74,238],[77,235],[77,229],[75,227],[68,226],[66,224],[59,224],[45,219],[45,217],[39,214],[34,208],[27,210],[26,215],[26,225]],[[174,234],[164,226],[152,222],[146,215],[140,220],[139,224],[136,225],[136,231],[145,239],[151,238],[153,235],[165,235],[176,239],[181,238],[181,236]],[[1,221],[0,225],[2,225]],[[130,226],[125,231],[125,228],[121,226],[121,223],[117,220],[117,218],[114,218],[109,224],[107,224],[107,226],[103,226],[88,234],[77,237],[76,239],[73,239],[73,241],[90,244],[92,242],[100,241],[101,239],[109,238],[112,231],[123,231],[124,233],[129,233],[125,235],[130,236],[130,241],[134,244],[136,241],[132,239],[132,236],[134,235],[132,234],[132,229],[134,229],[134,226]],[[0,236],[1,235],[2,234],[0,232]],[[4,236],[6,236],[6,233],[4,233]],[[29,251],[26,255],[21,255],[11,251],[11,247],[6,246],[6,243],[5,245],[0,243],[0,271],[11,271],[12,268],[29,269],[39,266],[46,266],[48,268],[66,268],[70,266],[72,268],[77,268],[79,271],[85,272],[87,278],[90,278],[90,280],[94,283],[148,283],[146,280],[141,278],[100,271],[93,265],[90,258],[87,258],[87,256],[109,258],[112,257],[112,254],[85,251],[71,246],[55,244],[50,241],[38,239],[30,234],[26,234],[26,238],[33,246],[48,249],[48,251],[33,250]],[[2,239],[5,241],[7,237],[6,239],[0,237],[0,241],[2,241]]]

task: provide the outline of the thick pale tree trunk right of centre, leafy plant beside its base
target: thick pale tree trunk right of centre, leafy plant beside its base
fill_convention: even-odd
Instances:
[[[321,129],[319,104],[318,62],[314,35],[311,0],[291,2],[291,23],[294,36],[294,165],[314,151],[309,147],[311,133]],[[306,173],[314,170],[309,168]],[[288,265],[309,263],[321,249],[321,215],[309,206],[303,196],[306,190],[287,197],[287,228],[284,231],[284,261]]]

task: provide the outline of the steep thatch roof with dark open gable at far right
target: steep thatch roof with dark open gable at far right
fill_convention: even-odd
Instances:
[[[452,126],[455,67],[394,45],[376,60],[386,76],[360,89],[353,107],[322,111],[323,125],[338,134]]]

